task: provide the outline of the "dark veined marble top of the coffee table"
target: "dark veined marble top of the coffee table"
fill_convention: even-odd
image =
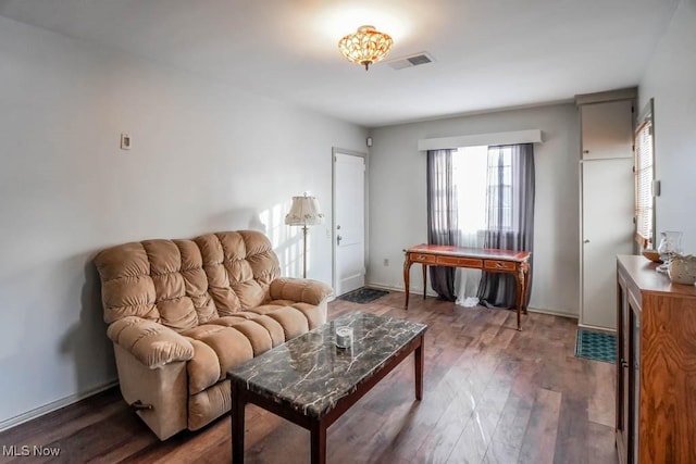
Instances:
[[[351,348],[337,348],[336,328],[351,327]],[[288,340],[233,368],[228,377],[277,403],[322,417],[356,391],[427,326],[356,312]]]

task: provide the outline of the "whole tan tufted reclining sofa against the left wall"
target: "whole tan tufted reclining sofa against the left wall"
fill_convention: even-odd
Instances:
[[[161,440],[228,412],[226,372],[325,323],[332,294],[278,278],[253,230],[125,243],[95,263],[121,392]]]

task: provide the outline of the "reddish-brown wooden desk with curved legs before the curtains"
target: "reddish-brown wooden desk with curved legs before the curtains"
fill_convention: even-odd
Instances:
[[[515,310],[518,330],[521,330],[520,314],[526,314],[529,293],[530,253],[529,251],[497,250],[493,248],[462,248],[446,244],[417,244],[403,250],[403,288],[406,309],[409,308],[409,281],[411,264],[423,265],[423,298],[425,298],[427,266],[470,267],[490,273],[512,274],[517,281]]]

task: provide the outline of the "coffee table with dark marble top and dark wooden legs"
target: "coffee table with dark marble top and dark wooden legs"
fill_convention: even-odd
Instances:
[[[336,347],[337,327],[352,328],[351,348]],[[229,371],[233,463],[244,463],[247,403],[310,430],[311,462],[325,463],[326,429],[411,353],[415,399],[421,400],[426,329],[424,324],[356,312]]]

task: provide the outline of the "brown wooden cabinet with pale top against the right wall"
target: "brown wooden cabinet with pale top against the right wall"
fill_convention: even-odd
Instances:
[[[617,259],[619,461],[696,463],[696,287]]]

